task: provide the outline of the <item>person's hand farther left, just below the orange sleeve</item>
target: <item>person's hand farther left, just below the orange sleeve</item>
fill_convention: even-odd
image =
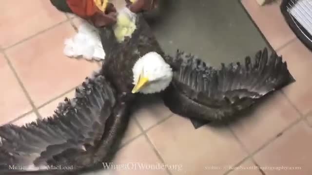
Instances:
[[[97,12],[90,18],[91,22],[96,27],[104,27],[115,24],[117,21],[117,11],[112,3],[108,3],[105,13]]]

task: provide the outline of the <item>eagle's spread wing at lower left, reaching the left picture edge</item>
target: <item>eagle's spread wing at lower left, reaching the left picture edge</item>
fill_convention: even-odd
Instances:
[[[126,106],[117,97],[104,76],[96,74],[52,117],[22,127],[0,126],[0,174],[52,170],[52,165],[76,170],[110,161],[128,123]]]

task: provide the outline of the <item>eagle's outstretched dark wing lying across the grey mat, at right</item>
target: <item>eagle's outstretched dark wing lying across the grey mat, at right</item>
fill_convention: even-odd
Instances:
[[[166,61],[175,70],[172,84],[163,93],[165,105],[174,113],[209,122],[224,122],[271,91],[292,81],[286,62],[267,49],[252,63],[222,64],[217,70],[192,55],[178,51]]]

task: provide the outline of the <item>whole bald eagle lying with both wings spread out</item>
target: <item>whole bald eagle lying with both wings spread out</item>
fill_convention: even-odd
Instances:
[[[112,27],[101,30],[106,58],[101,70],[65,99],[55,114],[24,126],[0,127],[1,174],[73,174],[101,167],[115,155],[139,92],[160,95],[174,113],[204,121],[227,121],[258,99],[288,85],[281,57],[265,49],[255,62],[215,69],[190,54],[161,50],[148,24],[118,42]],[[51,167],[72,167],[56,170]],[[15,169],[9,169],[10,167]]]

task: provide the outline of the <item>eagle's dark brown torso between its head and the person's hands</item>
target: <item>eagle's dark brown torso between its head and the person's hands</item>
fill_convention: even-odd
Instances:
[[[103,72],[122,92],[131,92],[133,85],[133,67],[146,53],[156,52],[163,55],[158,42],[151,33],[148,24],[137,16],[137,30],[132,37],[117,42],[113,28],[100,29],[103,48],[107,54],[103,63]]]

